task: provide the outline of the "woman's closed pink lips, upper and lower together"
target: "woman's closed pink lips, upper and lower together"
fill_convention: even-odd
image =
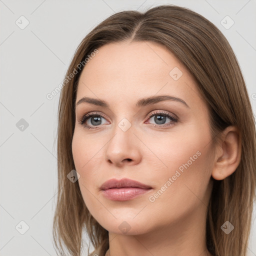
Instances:
[[[100,186],[105,197],[117,201],[135,198],[151,188],[148,185],[128,178],[122,178],[121,180],[109,179]]]

